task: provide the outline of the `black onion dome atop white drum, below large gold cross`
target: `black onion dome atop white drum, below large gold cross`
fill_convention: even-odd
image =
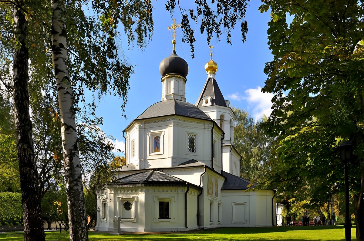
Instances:
[[[166,75],[180,75],[184,78],[188,75],[188,64],[186,60],[178,57],[176,51],[173,50],[169,57],[166,57],[159,64],[159,73],[162,77]]]

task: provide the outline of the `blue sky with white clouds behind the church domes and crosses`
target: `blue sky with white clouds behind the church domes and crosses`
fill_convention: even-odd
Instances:
[[[124,149],[122,131],[126,126],[145,111],[150,105],[161,101],[162,83],[159,74],[159,63],[172,52],[172,33],[167,27],[172,23],[172,17],[165,10],[165,1],[153,2],[154,33],[148,46],[144,49],[128,48],[123,41],[124,56],[130,64],[135,65],[135,75],[130,79],[130,90],[124,114],[120,106],[122,100],[115,96],[104,96],[96,115],[103,117],[100,128],[108,135],[115,137],[116,145]],[[181,1],[182,4],[191,4],[192,1]],[[266,75],[264,65],[273,59],[268,48],[267,29],[270,12],[260,13],[260,1],[252,1],[246,13],[248,21],[248,34],[246,42],[242,43],[240,23],[232,31],[233,45],[226,43],[226,35],[211,40],[213,60],[218,64],[216,80],[226,100],[232,106],[245,109],[254,119],[262,117],[263,113],[270,114],[271,94],[261,93]],[[182,6],[188,8],[188,6]],[[176,23],[180,23],[180,13],[173,15]],[[176,52],[185,59],[189,65],[189,74],[186,82],[186,101],[195,104],[199,93],[206,81],[205,64],[210,60],[210,49],[206,35],[199,33],[199,27],[193,26],[195,32],[195,58],[191,59],[190,47],[182,43],[182,31],[177,30]]]

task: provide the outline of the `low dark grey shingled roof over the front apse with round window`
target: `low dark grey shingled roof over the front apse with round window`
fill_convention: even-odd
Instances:
[[[126,177],[116,179],[112,184],[127,184],[127,183],[155,183],[155,182],[173,182],[179,184],[186,184],[186,181],[169,174],[159,172],[157,170],[148,170],[146,172],[139,172],[131,174]]]

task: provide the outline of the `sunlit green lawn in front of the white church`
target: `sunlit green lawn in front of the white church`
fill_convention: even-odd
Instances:
[[[351,229],[352,240],[355,238],[355,228]],[[46,232],[48,241],[69,240],[67,233]],[[219,228],[213,230],[194,230],[186,233],[124,233],[114,235],[105,232],[88,233],[89,240],[345,240],[343,226],[296,226],[296,227],[268,227],[268,228]],[[24,240],[21,232],[0,234],[1,241]]]

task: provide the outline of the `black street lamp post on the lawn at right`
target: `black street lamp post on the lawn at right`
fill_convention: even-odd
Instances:
[[[351,221],[349,211],[349,162],[352,153],[352,144],[350,141],[345,141],[339,146],[340,159],[344,162],[344,180],[345,180],[345,240],[351,241]]]

